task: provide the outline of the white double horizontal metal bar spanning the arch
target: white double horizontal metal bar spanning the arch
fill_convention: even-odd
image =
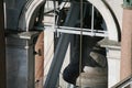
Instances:
[[[94,33],[91,33],[91,29],[79,29],[79,28],[69,28],[69,26],[58,26],[58,28],[53,28],[53,26],[44,26],[44,28],[38,28],[35,26],[36,30],[46,30],[46,31],[52,31],[52,32],[61,32],[61,33],[68,33],[68,34],[80,34],[80,31],[82,30],[82,35],[90,35],[90,36],[102,36],[106,37],[108,36],[107,31],[101,31],[101,30],[92,30]]]

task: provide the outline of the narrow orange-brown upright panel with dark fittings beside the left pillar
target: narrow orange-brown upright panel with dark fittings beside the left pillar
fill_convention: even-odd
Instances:
[[[44,75],[44,32],[41,32],[35,44],[35,88],[43,87]]]

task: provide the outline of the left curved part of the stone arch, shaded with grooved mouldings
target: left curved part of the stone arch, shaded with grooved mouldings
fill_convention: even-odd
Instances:
[[[29,2],[26,2],[20,15],[19,25],[18,25],[18,28],[21,31],[29,31],[29,29],[31,29],[30,28],[31,19],[34,15],[34,13],[38,11],[40,7],[42,7],[44,2],[45,0],[29,0]]]

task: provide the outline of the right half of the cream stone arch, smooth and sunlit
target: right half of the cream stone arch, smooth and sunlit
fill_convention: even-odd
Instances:
[[[118,26],[119,24],[116,22],[116,18],[113,13],[111,13],[110,8],[108,4],[105,3],[102,0],[88,0],[91,4],[94,4],[97,10],[100,12],[102,15],[107,29],[108,29],[108,37],[109,40],[112,41],[119,41],[120,40],[120,28]]]

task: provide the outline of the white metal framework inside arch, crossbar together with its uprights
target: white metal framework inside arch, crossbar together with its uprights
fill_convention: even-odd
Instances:
[[[77,3],[77,2],[76,2]],[[96,8],[91,4],[91,25],[89,29],[80,29],[80,28],[70,28],[70,26],[59,26],[57,25],[54,16],[54,9],[62,9],[62,8],[69,8],[72,4],[67,2],[62,2],[61,6],[54,8],[54,7],[48,7],[48,4],[53,4],[52,1],[47,1],[46,9],[51,9],[50,11],[45,12],[45,19],[52,18],[52,22],[44,22],[44,28],[43,26],[35,26],[36,30],[47,30],[47,31],[53,31],[53,32],[58,32],[58,33],[67,33],[67,34],[80,34],[80,31],[82,30],[82,35],[89,35],[89,36],[101,36],[101,37],[107,37],[108,31],[106,28],[106,23],[102,23],[103,30],[102,29],[95,29],[95,11]],[[70,13],[72,15],[72,13]]]

